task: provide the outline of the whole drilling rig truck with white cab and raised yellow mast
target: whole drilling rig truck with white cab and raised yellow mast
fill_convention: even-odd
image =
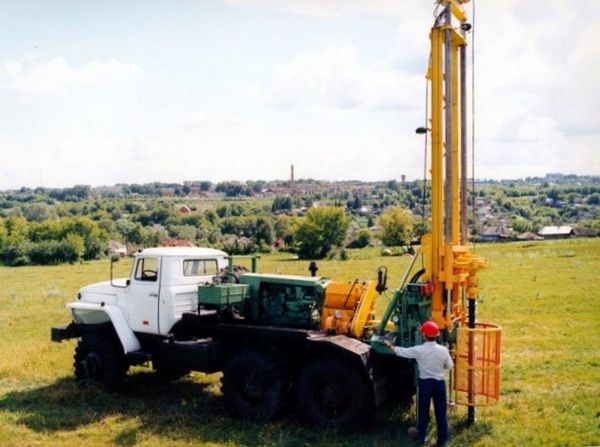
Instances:
[[[150,248],[129,278],[83,287],[72,322],[52,340],[78,339],[78,381],[117,389],[131,365],[163,379],[219,372],[234,416],[269,420],[293,406],[309,423],[349,427],[365,410],[411,396],[415,365],[381,343],[421,341],[433,320],[455,360],[451,396],[469,408],[499,398],[500,328],[476,319],[478,272],[467,245],[466,46],[468,0],[438,0],[430,32],[431,232],[385,312],[374,313],[387,273],[344,282],[233,269],[207,248]],[[111,264],[112,265],[112,264]],[[223,273],[225,272],[225,273]]]

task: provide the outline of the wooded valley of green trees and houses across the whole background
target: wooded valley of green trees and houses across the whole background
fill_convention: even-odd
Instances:
[[[239,199],[238,187],[243,186],[243,194],[252,194],[261,191],[265,182],[184,186],[214,189],[219,185],[235,198],[99,197],[81,185],[0,192],[0,263],[95,259],[103,255],[110,239],[140,247],[185,239],[232,254],[267,252],[277,242],[278,247],[299,256],[318,258],[330,256],[349,242],[352,247],[364,247],[377,237],[384,245],[396,246],[428,231],[428,221],[423,218],[430,212],[428,182],[390,180],[369,184],[366,189],[247,200]],[[156,193],[162,186],[127,187]],[[179,211],[184,203],[191,212]],[[469,206],[473,204],[476,210],[488,210],[475,220],[469,212],[474,234],[499,223],[517,233],[565,224],[600,230],[600,185],[594,182],[483,185],[469,194]],[[378,228],[373,231],[374,227]]]

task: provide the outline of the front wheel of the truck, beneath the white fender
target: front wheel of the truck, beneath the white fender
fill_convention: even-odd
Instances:
[[[121,343],[105,331],[90,332],[79,340],[73,367],[80,384],[96,383],[109,391],[121,387],[128,369]]]

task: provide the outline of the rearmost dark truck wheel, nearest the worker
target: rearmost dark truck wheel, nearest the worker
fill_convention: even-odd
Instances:
[[[360,423],[367,408],[366,386],[356,369],[341,361],[317,359],[301,372],[296,388],[300,415],[323,428]]]

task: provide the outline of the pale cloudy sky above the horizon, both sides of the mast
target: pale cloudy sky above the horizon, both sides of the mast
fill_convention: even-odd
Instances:
[[[433,3],[0,0],[0,189],[420,179]],[[600,175],[600,1],[466,10],[475,176]]]

